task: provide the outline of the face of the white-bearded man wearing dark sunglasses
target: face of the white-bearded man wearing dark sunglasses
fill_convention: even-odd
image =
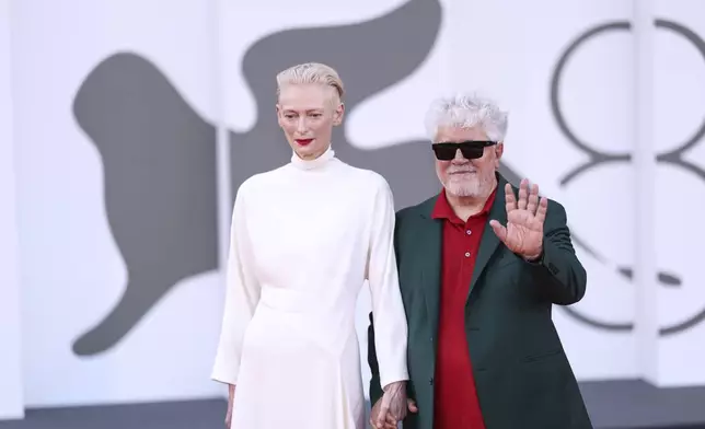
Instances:
[[[441,127],[436,136],[435,143],[455,142],[469,140],[489,140],[479,127],[459,128]],[[484,149],[482,158],[467,160],[460,150],[451,161],[436,160],[436,174],[446,192],[456,197],[486,196],[495,181],[495,171],[499,167],[499,159],[504,151],[504,143],[499,142]]]

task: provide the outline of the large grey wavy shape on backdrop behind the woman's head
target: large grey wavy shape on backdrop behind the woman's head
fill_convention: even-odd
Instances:
[[[304,61],[332,65],[345,82],[349,114],[360,102],[398,83],[424,63],[436,43],[441,19],[438,1],[413,0],[372,21],[289,30],[255,43],[244,57],[243,72],[256,98],[257,123],[247,134],[231,134],[233,189],[252,174],[291,156],[274,116],[277,72]],[[380,127],[384,120],[380,117]],[[377,130],[370,127],[368,134],[374,136]],[[394,190],[396,207],[416,204],[439,189],[429,142],[404,141],[363,150],[349,144],[343,127],[337,127],[333,148],[345,162],[381,173]]]

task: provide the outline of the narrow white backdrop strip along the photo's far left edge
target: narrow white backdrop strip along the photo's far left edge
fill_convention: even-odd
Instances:
[[[0,419],[24,414],[10,58],[10,1],[0,0]]]

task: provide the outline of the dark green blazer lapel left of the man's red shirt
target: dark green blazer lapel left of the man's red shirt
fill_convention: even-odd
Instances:
[[[434,333],[438,328],[443,237],[443,222],[431,217],[436,198],[438,196],[428,199],[420,207],[423,228],[420,228],[420,243],[417,247],[418,258],[416,259],[421,268],[421,289]]]

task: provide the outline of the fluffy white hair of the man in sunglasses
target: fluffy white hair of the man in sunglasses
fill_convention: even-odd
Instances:
[[[508,114],[497,104],[476,94],[456,94],[436,100],[426,114],[426,130],[431,141],[440,127],[475,128],[493,141],[504,141]]]

